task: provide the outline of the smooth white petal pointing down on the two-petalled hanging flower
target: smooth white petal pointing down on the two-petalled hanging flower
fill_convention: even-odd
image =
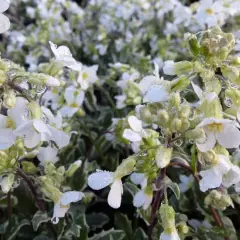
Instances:
[[[119,208],[121,206],[123,194],[123,186],[121,179],[117,179],[113,182],[111,190],[108,194],[108,204],[112,208]]]

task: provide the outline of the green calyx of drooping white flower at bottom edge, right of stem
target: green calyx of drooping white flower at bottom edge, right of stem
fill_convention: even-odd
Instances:
[[[160,207],[160,216],[165,232],[171,233],[175,230],[175,211],[173,207],[167,204],[162,204]]]

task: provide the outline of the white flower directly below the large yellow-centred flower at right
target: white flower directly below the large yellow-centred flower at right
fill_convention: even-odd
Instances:
[[[220,187],[224,174],[231,169],[231,162],[225,155],[218,155],[216,162],[213,164],[210,169],[200,171],[199,173],[202,177],[199,183],[202,192]]]

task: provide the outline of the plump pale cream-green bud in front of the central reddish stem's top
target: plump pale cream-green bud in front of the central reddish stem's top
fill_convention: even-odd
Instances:
[[[156,150],[155,160],[159,168],[165,168],[171,161],[172,148],[167,148],[163,145],[159,146]]]

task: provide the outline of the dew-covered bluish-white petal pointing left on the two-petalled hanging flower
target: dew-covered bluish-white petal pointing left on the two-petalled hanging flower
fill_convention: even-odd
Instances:
[[[94,190],[100,190],[113,182],[113,172],[97,171],[88,177],[88,185]]]

